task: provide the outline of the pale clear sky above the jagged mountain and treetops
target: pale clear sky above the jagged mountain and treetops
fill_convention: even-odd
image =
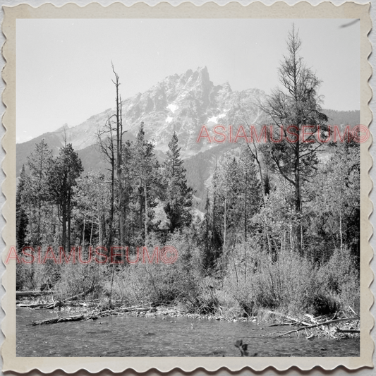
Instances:
[[[324,108],[360,108],[360,24],[351,20],[18,19],[17,142],[114,107],[111,61],[123,99],[167,75],[207,66],[232,90],[278,85],[277,68],[295,23],[301,56],[322,80]]]

